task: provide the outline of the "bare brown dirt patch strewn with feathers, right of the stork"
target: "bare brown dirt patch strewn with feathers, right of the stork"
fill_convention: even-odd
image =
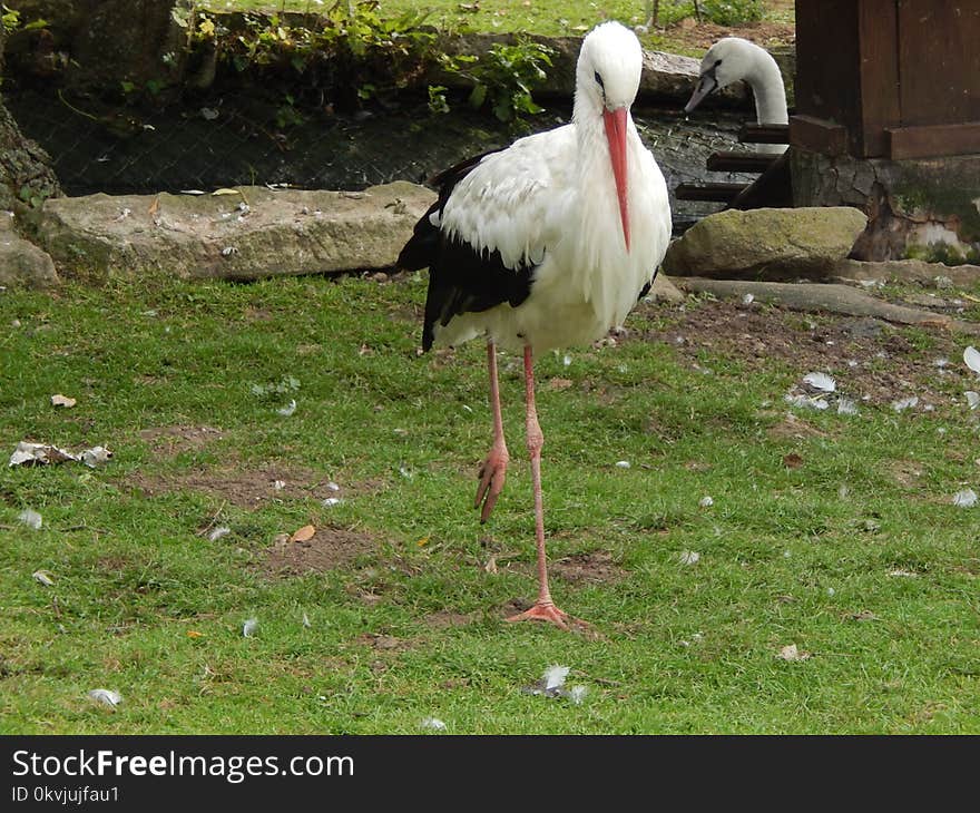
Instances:
[[[910,329],[880,320],[802,314],[758,303],[688,302],[673,308],[672,317],[670,326],[644,337],[670,344],[692,363],[708,351],[749,371],[786,368],[798,371],[800,379],[826,372],[847,398],[885,406],[910,395],[949,405],[971,389],[960,340],[938,329],[914,329],[928,333],[930,346],[922,350],[908,337]],[[939,366],[942,359],[949,364]],[[795,433],[798,427],[792,429]]]

